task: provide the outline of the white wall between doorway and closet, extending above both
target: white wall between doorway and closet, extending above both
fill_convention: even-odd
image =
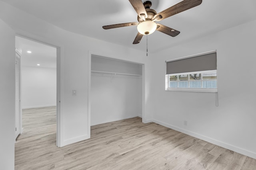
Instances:
[[[142,51],[65,31],[2,1],[0,18],[18,34],[60,47],[60,146],[88,139],[90,135],[89,52],[136,63],[148,60]],[[72,89],[77,90],[76,96],[72,96]]]

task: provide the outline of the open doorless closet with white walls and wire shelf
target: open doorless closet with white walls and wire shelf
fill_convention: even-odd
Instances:
[[[89,125],[143,118],[144,64],[93,54],[89,62]]]

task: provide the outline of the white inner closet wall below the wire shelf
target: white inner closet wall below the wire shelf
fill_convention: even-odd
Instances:
[[[103,76],[102,76],[103,75]],[[142,116],[142,78],[92,73],[91,125]]]

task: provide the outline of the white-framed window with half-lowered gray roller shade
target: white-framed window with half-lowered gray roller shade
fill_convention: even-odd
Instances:
[[[216,51],[166,61],[166,90],[217,92]]]

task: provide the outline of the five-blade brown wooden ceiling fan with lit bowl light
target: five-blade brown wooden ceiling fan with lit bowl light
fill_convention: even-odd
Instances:
[[[138,14],[139,23],[137,22],[119,23],[114,25],[106,25],[106,26],[103,26],[103,28],[112,29],[112,28],[118,28],[118,27],[138,25],[137,26],[138,34],[136,35],[133,41],[133,44],[140,43],[140,40],[142,39],[143,35],[152,34],[155,30],[165,33],[167,35],[170,35],[172,37],[175,37],[180,33],[180,31],[177,31],[175,29],[172,29],[160,23],[155,23],[155,21],[161,21],[165,18],[168,18],[170,16],[173,16],[175,14],[178,14],[180,12],[183,12],[185,10],[198,6],[202,3],[202,0],[183,0],[182,2],[179,2],[178,4],[171,6],[170,8],[167,8],[166,10],[163,10],[162,12],[159,12],[157,14],[155,10],[150,9],[152,5],[150,1],[146,1],[144,3],[142,3],[141,0],[129,0],[129,1],[132,4],[134,10]]]

